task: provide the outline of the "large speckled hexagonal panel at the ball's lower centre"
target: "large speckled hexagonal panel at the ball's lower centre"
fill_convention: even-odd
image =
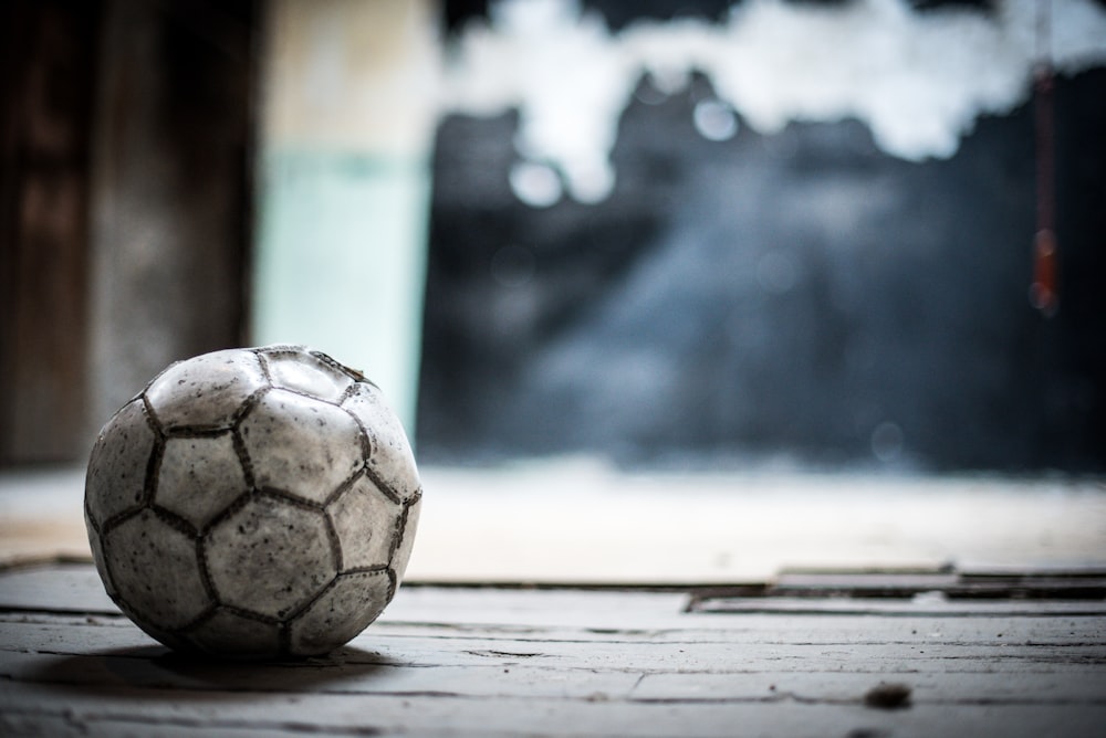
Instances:
[[[284,618],[337,573],[322,510],[258,495],[217,521],[205,557],[222,604]]]

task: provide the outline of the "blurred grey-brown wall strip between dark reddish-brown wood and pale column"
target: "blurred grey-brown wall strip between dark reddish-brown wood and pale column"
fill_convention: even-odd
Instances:
[[[93,129],[91,418],[240,345],[252,225],[251,0],[104,6]]]

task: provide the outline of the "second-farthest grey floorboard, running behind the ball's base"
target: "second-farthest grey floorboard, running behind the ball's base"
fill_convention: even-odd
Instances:
[[[125,621],[91,623],[0,623],[0,651],[72,655],[113,654],[155,657],[164,651]],[[132,653],[139,650],[137,654]],[[294,663],[294,662],[293,662]],[[854,672],[863,674],[1008,675],[1082,674],[1094,678],[1106,664],[1106,644],[1071,645],[895,643],[878,635],[868,642],[838,644],[728,641],[653,642],[493,637],[480,635],[389,635],[369,628],[345,650],[319,664],[356,666],[403,664],[413,667],[511,667],[525,664],[549,671],[604,671],[634,674]],[[1103,683],[1106,694],[1106,682]]]

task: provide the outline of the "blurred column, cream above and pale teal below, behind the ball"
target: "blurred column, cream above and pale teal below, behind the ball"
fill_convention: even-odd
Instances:
[[[331,354],[414,434],[437,74],[429,0],[273,0],[252,340]]]

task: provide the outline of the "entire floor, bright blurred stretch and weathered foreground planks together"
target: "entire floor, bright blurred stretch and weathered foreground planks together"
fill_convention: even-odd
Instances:
[[[115,609],[82,470],[0,474],[0,738],[1106,736],[1102,479],[424,485],[421,586],[327,658],[246,665]]]

